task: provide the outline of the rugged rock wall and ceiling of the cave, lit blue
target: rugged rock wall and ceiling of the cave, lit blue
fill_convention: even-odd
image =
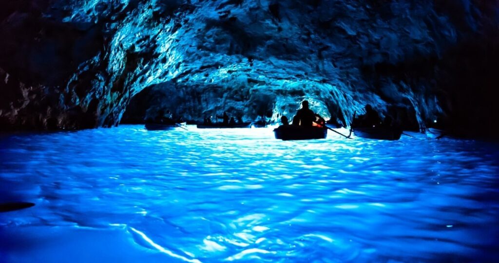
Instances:
[[[276,120],[303,99],[345,125],[367,103],[412,129],[499,120],[498,1],[1,5],[2,129],[112,126],[127,105],[126,121],[166,108]]]

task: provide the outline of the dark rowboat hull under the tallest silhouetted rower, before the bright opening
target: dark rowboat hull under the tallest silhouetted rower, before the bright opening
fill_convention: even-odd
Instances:
[[[327,136],[327,129],[314,126],[281,125],[274,129],[274,135],[276,139],[282,140],[324,139]]]

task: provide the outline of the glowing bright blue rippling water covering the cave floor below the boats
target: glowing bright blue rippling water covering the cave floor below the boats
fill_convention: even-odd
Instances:
[[[0,138],[0,261],[492,261],[485,142],[280,141],[271,129]]]

